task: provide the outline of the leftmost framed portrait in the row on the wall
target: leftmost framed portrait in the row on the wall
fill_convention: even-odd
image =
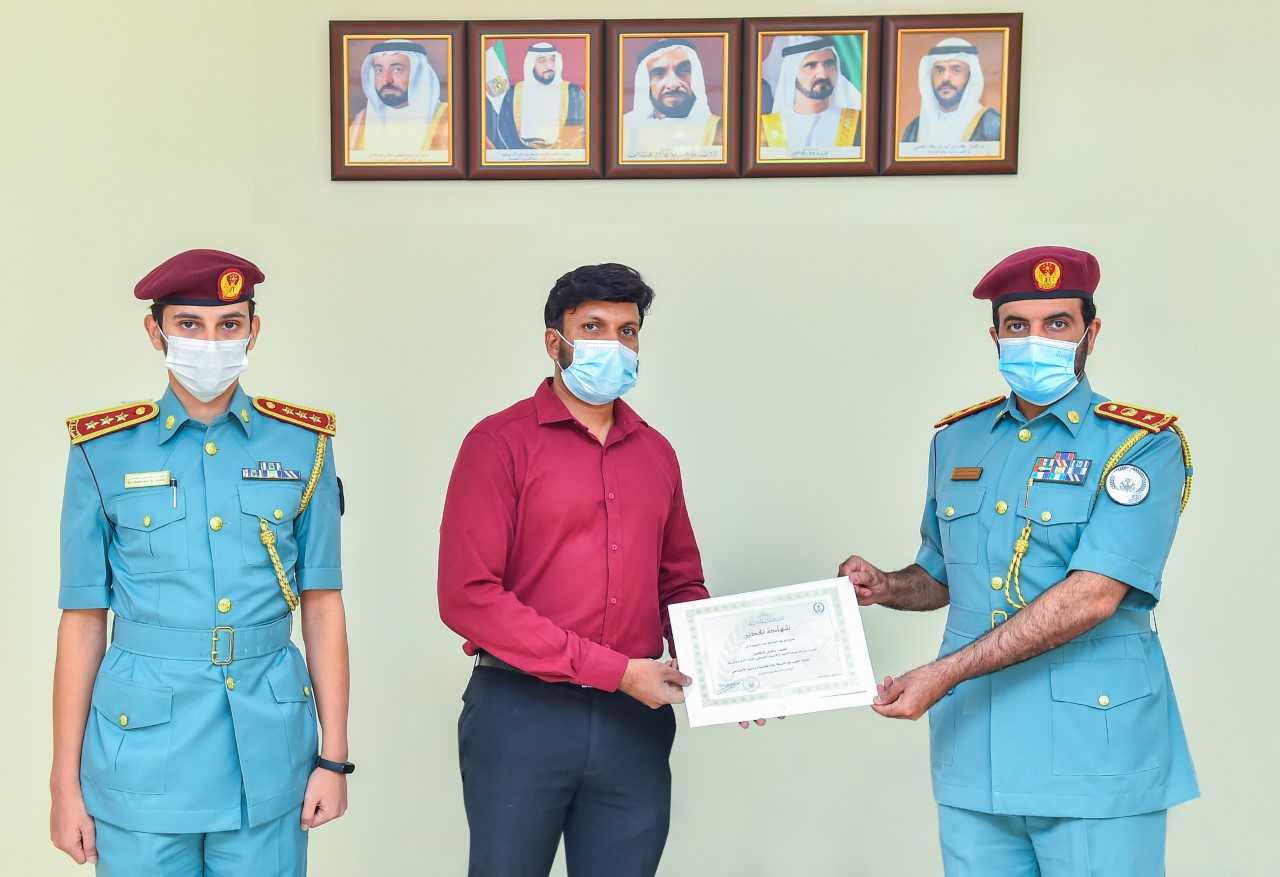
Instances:
[[[463,22],[329,22],[333,179],[466,175]]]

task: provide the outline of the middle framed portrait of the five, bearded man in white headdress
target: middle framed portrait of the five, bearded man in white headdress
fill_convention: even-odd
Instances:
[[[741,19],[605,24],[605,175],[737,177]]]

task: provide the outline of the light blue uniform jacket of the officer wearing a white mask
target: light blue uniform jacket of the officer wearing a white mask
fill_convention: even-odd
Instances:
[[[294,593],[342,588],[332,453],[297,516],[319,435],[260,414],[238,388],[207,426],[172,390],[159,405],[154,420],[72,447],[59,607],[206,632],[278,621],[288,608],[264,520]],[[270,469],[260,463],[297,480],[244,471]],[[165,470],[177,492],[125,488],[128,474]],[[296,809],[316,750],[311,680],[292,644],[228,666],[113,644],[93,686],[81,784],[88,812],[123,828],[229,831],[241,827],[242,795],[250,825]]]

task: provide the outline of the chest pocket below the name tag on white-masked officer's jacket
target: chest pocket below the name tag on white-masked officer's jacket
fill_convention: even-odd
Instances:
[[[189,563],[187,495],[170,488],[128,492],[111,506],[115,549],[133,574],[174,572]]]

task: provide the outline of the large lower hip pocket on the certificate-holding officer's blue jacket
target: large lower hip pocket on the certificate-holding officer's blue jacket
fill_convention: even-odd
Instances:
[[[1147,662],[1079,661],[1050,667],[1053,773],[1123,776],[1169,758],[1169,707]]]

